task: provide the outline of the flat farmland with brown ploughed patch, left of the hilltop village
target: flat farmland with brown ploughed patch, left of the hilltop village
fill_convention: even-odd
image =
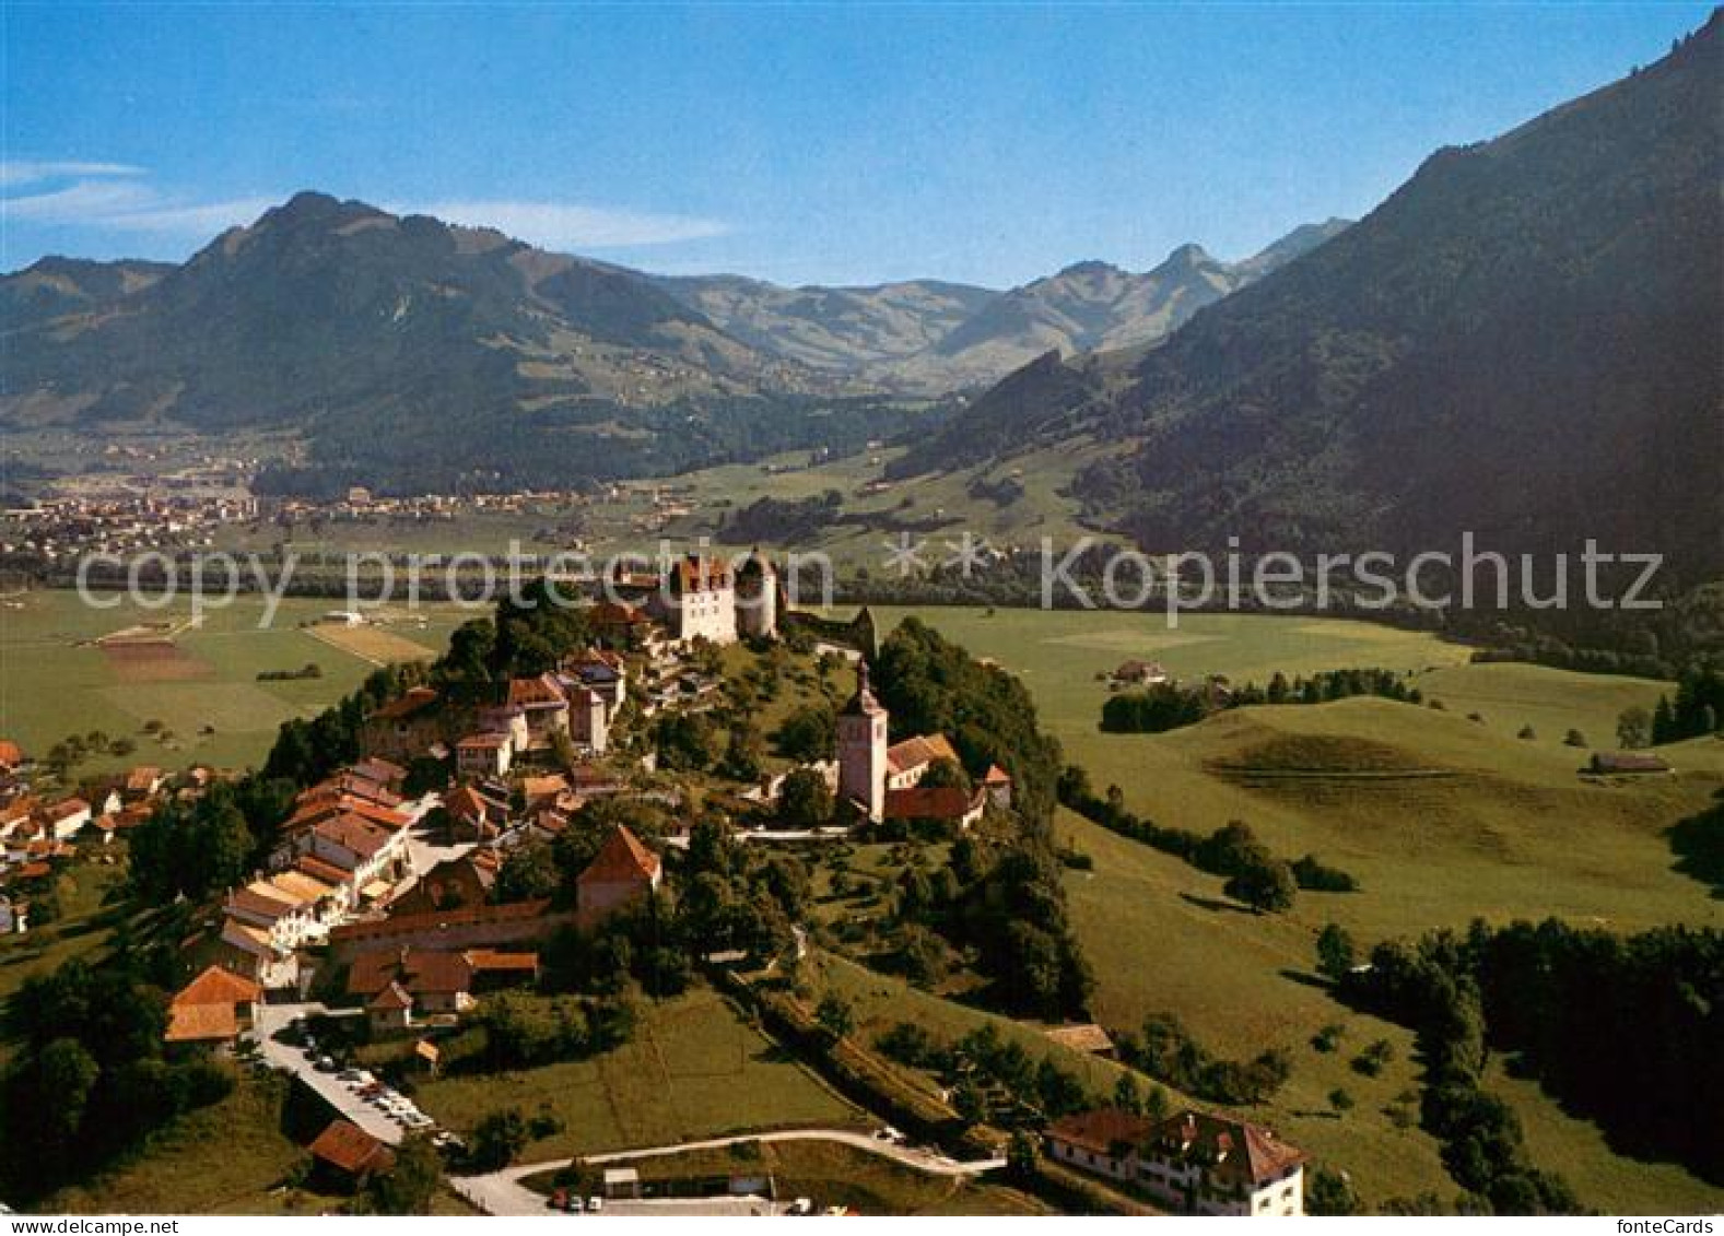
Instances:
[[[422,610],[422,626],[405,615],[386,629],[329,626],[312,634],[302,626],[334,605],[286,598],[260,629],[264,600],[257,596],[209,610],[200,626],[190,626],[186,605],[97,610],[74,591],[10,596],[0,607],[0,734],[38,757],[91,729],[136,743],[134,753],[95,757],[78,774],[131,764],[245,767],[264,757],[283,721],[322,710],[383,659],[436,655],[465,617],[438,607]],[[171,646],[95,643],[141,624],[166,624]],[[257,679],[309,664],[321,669],[319,677]],[[148,721],[160,721],[169,738],[141,733]],[[202,733],[205,726],[214,733]]]

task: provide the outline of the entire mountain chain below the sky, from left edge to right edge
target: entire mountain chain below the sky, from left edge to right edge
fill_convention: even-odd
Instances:
[[[1717,571],[1721,26],[1436,152],[1357,224],[1010,291],[655,278],[302,193],[183,265],[43,259],[0,279],[0,426],[286,429],[309,460],[265,484],[312,493],[893,434],[903,478],[1100,443],[1071,495],[1150,548],[1471,531]],[[929,398],[967,384],[984,390]]]

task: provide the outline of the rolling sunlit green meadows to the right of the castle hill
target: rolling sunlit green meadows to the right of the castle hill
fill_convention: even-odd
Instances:
[[[903,612],[879,612],[883,626]],[[1426,1189],[1448,1198],[1453,1184],[1434,1143],[1388,1112],[1405,1107],[1398,1098],[1417,1084],[1405,1031],[1341,1008],[1310,981],[1324,922],[1341,922],[1364,945],[1481,915],[1558,915],[1619,931],[1724,924],[1724,903],[1674,871],[1665,836],[1724,786],[1724,743],[1672,746],[1677,776],[1643,781],[1583,779],[1586,752],[1562,743],[1572,726],[1614,745],[1615,715],[1653,703],[1667,684],[1471,665],[1464,648],[1431,636],[1296,617],[1188,615],[1167,631],[1153,617],[1119,614],[921,615],[1021,674],[1045,727],[1096,788],[1121,786],[1134,810],[1167,826],[1210,831],[1243,819],[1277,853],[1315,852],[1359,877],[1359,893],[1302,893],[1291,914],[1252,915],[1222,895],[1221,879],[1067,812],[1057,824],[1062,843],[1095,860],[1093,871],[1067,874],[1067,893],[1096,971],[1100,1021],[1134,1027],[1150,1012],[1174,1012],[1219,1055],[1288,1048],[1293,1079],[1255,1115],[1350,1170],[1369,1200]],[[1188,679],[1214,672],[1259,683],[1276,669],[1383,665],[1410,672],[1445,709],[1353,698],[1243,709],[1167,734],[1102,734],[1107,686],[1095,676],[1127,657],[1162,660]],[[1536,740],[1517,738],[1524,724]],[[893,979],[833,972],[874,1024],[979,1015]],[[1329,1024],[1345,1027],[1343,1039],[1322,1053],[1310,1039]],[[1352,1058],[1376,1039],[1395,1057],[1367,1077]],[[1681,1169],[1615,1155],[1536,1088],[1502,1084],[1538,1162],[1569,1176],[1591,1205],[1636,1210],[1653,1196],[1665,1208],[1724,1205],[1719,1189]],[[1336,1088],[1353,1100],[1341,1115],[1329,1103]]]

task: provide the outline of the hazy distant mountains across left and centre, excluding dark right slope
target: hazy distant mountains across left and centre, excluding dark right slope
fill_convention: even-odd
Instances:
[[[309,464],[265,484],[310,493],[843,450],[917,422],[946,383],[1153,336],[1302,243],[1238,267],[1186,247],[1145,276],[1086,264],[1009,293],[788,291],[300,193],[183,265],[48,257],[0,278],[0,424],[284,429]]]

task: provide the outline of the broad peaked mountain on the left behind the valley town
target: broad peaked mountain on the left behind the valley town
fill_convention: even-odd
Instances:
[[[288,488],[629,476],[903,424],[633,271],[319,193],[179,267],[40,262],[0,290],[0,424],[290,429]]]

